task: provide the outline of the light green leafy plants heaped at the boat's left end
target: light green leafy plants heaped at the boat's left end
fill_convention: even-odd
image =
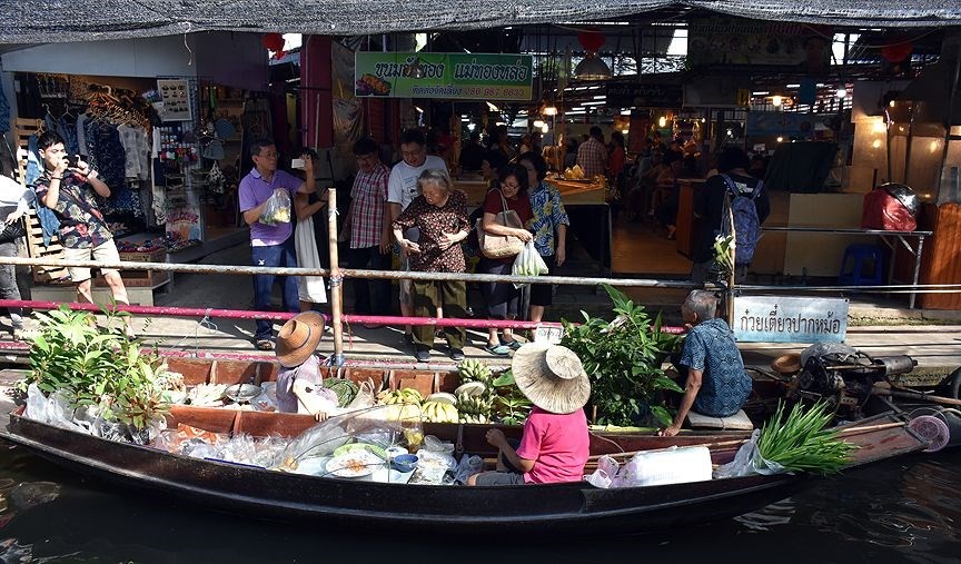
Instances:
[[[127,338],[122,321],[128,314],[103,315],[106,326],[67,306],[37,314],[40,329],[32,336],[22,387],[36,383],[47,394],[63,390],[75,407],[98,405],[105,419],[141,431],[167,409],[161,400],[166,367],[156,348],[143,353],[138,340]]]

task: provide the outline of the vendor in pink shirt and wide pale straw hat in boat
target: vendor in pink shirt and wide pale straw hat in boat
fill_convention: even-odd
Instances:
[[[521,392],[534,404],[519,446],[501,429],[487,432],[487,442],[501,454],[496,472],[467,478],[467,485],[548,484],[584,479],[590,437],[584,404],[591,382],[581,359],[557,345],[527,344],[511,363]]]

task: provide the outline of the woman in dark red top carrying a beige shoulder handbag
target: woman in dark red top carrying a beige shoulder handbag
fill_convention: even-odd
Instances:
[[[484,217],[477,229],[482,238],[477,271],[509,275],[519,247],[534,238],[525,227],[534,219],[534,211],[527,196],[527,170],[524,167],[507,165],[499,170],[498,179],[501,186],[489,190],[484,199]],[[487,304],[488,319],[517,318],[521,293],[512,283],[483,283],[481,291]],[[497,329],[487,329],[484,350],[507,356],[517,348],[521,348],[521,343],[511,329],[503,329],[503,337],[498,337]]]

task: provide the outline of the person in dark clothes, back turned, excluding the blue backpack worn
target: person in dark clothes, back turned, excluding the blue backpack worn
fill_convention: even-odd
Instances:
[[[734,187],[742,195],[752,196],[754,190],[761,190],[754,198],[757,209],[757,222],[763,224],[771,214],[771,201],[767,199],[767,190],[763,189],[761,179],[752,177],[747,172],[751,166],[747,154],[740,147],[726,147],[717,158],[719,175],[712,176],[704,182],[704,187],[694,194],[694,216],[700,219],[697,231],[694,236],[694,245],[691,249],[691,259],[694,266],[691,269],[691,279],[695,284],[703,284],[707,273],[714,263],[714,238],[721,234],[724,215],[724,199],[729,194],[727,182],[723,175],[727,175]],[[733,195],[731,195],[733,198]],[[744,273],[740,273],[743,277]]]

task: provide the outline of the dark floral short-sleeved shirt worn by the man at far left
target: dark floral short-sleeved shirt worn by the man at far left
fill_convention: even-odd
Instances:
[[[49,190],[50,172],[44,171],[37,179],[38,207],[46,207],[43,198]],[[63,172],[57,206],[52,210],[60,220],[60,244],[66,248],[93,248],[113,237],[107,228],[103,215],[97,208],[93,188],[87,184],[86,178],[72,170]]]

